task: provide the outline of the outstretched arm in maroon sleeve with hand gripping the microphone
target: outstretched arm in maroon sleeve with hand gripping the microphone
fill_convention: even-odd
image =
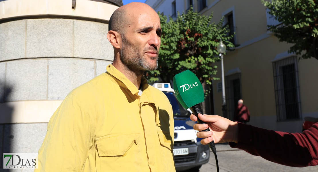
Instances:
[[[211,130],[197,133],[197,137],[204,138],[201,140],[204,145],[212,140],[215,143],[229,142],[232,148],[243,149],[282,165],[318,165],[318,122],[302,133],[287,133],[234,122],[218,115],[199,114],[198,117],[207,124],[195,124],[193,128],[201,131],[210,127]],[[193,114],[190,119],[197,121]]]

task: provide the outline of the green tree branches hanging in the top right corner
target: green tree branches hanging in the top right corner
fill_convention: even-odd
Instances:
[[[317,0],[272,0],[262,3],[278,25],[268,25],[268,30],[279,41],[292,43],[288,52],[302,58],[314,57],[318,60],[318,2]],[[303,52],[304,51],[304,52]]]

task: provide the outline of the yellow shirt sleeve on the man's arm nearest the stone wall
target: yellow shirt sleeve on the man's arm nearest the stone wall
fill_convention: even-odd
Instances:
[[[35,171],[80,171],[90,147],[90,121],[84,104],[69,94],[48,123]]]

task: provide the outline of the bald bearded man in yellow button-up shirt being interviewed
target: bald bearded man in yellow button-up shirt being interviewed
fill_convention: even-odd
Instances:
[[[142,76],[157,68],[160,37],[159,16],[147,4],[113,13],[114,62],[52,115],[36,171],[175,171],[172,107]]]

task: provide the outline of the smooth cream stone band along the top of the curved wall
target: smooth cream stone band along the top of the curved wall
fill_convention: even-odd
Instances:
[[[118,8],[113,4],[98,1],[77,0],[75,9],[67,0],[10,0],[0,2],[0,20],[12,17],[60,15],[85,17],[109,21]]]

